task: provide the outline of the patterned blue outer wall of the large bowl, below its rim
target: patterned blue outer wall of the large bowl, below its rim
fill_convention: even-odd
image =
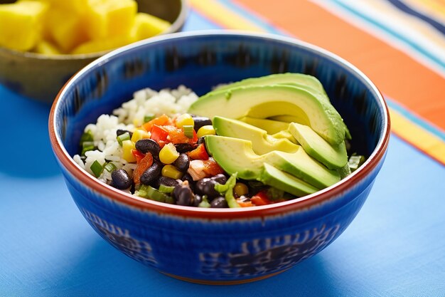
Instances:
[[[276,217],[223,222],[128,207],[64,174],[80,212],[112,246],[164,273],[218,282],[260,278],[317,254],[352,222],[377,171],[333,202]]]

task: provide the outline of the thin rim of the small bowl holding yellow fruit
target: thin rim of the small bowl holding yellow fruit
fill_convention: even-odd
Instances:
[[[165,31],[159,33],[158,35],[149,37],[154,38],[156,36],[163,36],[166,34],[174,33],[176,31],[179,31],[179,29],[184,26],[187,20],[187,16],[190,11],[190,4],[188,3],[188,0],[179,0],[181,3],[181,10],[179,11],[178,17],[173,21],[171,26],[169,26]],[[146,39],[149,39],[146,38]],[[142,41],[146,40],[143,39]],[[138,41],[136,41],[138,42]],[[132,44],[132,43],[129,43]],[[60,55],[45,55],[44,53],[33,53],[31,51],[17,51],[11,48],[5,48],[3,46],[0,46],[0,52],[4,52],[9,54],[10,56],[16,56],[21,58],[33,58],[36,60],[51,60],[51,61],[77,61],[77,60],[87,60],[87,59],[95,59],[99,58],[101,56],[104,56],[107,53],[110,53],[117,48],[112,48],[105,51],[97,51],[95,53],[62,53]]]

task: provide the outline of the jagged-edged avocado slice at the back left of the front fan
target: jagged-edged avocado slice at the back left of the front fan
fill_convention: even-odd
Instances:
[[[213,127],[217,135],[250,140],[254,152],[258,155],[264,155],[273,150],[296,152],[300,148],[289,140],[274,138],[268,135],[266,130],[240,120],[216,116],[213,118]]]

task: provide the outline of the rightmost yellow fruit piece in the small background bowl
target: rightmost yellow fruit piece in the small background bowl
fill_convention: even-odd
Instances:
[[[132,38],[134,41],[149,38],[151,36],[158,35],[163,31],[166,31],[171,23],[159,19],[151,14],[145,14],[144,12],[139,12],[136,14],[136,19],[134,20],[134,26],[132,28]]]

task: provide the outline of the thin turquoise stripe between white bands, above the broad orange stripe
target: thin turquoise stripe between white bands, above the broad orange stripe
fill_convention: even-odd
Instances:
[[[331,0],[331,2],[334,4],[337,4],[338,6],[341,6],[341,8],[350,12],[351,14],[354,14],[355,16],[358,16],[360,19],[368,21],[368,23],[380,28],[382,31],[389,33],[391,36],[397,38],[399,41],[406,43],[410,48],[413,48],[415,51],[417,51],[417,53],[420,53],[422,56],[424,56],[424,57],[428,58],[430,61],[436,63],[437,66],[440,66],[442,68],[442,70],[445,71],[445,62],[441,61],[441,59],[439,57],[435,56],[434,53],[431,53],[430,51],[427,50],[427,48],[424,48],[419,43],[415,43],[411,39],[401,35],[397,31],[392,30],[391,28],[387,28],[385,26],[385,24],[380,24],[375,19],[372,19],[369,16],[365,16],[360,11],[353,9],[353,7],[350,7],[347,4],[343,4],[341,1]]]

